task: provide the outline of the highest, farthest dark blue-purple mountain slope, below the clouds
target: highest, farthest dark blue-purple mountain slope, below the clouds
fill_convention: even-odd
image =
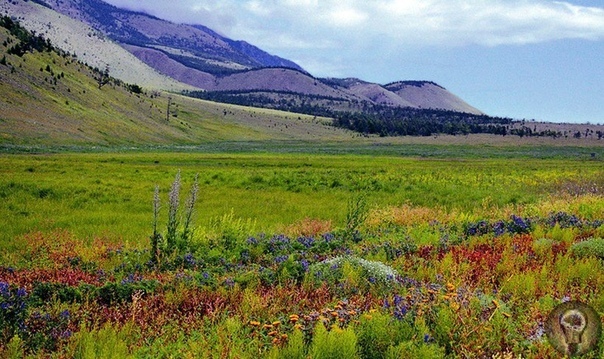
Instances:
[[[270,55],[244,41],[233,41],[201,25],[174,24],[101,0],[44,0],[52,9],[89,24],[114,41],[155,48],[188,67],[214,74],[295,63]]]

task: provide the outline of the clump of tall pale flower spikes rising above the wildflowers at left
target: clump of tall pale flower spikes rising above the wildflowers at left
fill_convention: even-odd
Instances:
[[[192,220],[195,202],[199,192],[199,175],[191,186],[189,197],[184,208],[180,208],[181,178],[180,170],[176,173],[174,182],[168,193],[168,222],[165,236],[159,232],[159,212],[161,209],[159,186],[155,186],[153,195],[153,234],[151,235],[151,260],[159,262],[162,255],[170,255],[178,251],[184,251],[189,246],[193,235]]]

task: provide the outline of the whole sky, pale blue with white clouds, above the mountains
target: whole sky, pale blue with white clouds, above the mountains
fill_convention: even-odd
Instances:
[[[316,77],[434,81],[481,111],[604,124],[601,0],[105,0],[201,24]]]

